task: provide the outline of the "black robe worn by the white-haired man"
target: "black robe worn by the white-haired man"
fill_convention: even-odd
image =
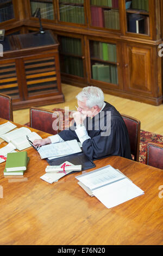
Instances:
[[[85,119],[84,125],[90,139],[83,142],[83,152],[90,160],[106,156],[122,156],[131,159],[130,141],[126,124],[116,108],[105,102],[106,105],[95,117]],[[103,113],[102,113],[103,112]],[[76,126],[76,123],[74,123]],[[75,127],[63,130],[59,136],[68,141],[77,139]]]

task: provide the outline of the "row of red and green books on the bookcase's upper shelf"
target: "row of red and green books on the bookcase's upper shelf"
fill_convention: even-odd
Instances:
[[[103,9],[101,7],[91,7],[91,24],[95,27],[105,27],[110,29],[120,29],[120,14],[116,9]]]

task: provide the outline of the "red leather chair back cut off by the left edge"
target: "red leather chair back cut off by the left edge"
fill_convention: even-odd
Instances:
[[[13,121],[12,99],[2,93],[0,93],[0,117]]]

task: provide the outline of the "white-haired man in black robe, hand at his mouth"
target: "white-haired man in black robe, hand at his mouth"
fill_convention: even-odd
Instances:
[[[102,90],[85,87],[76,97],[78,107],[73,114],[74,126],[58,135],[36,139],[34,145],[40,147],[77,139],[90,160],[110,155],[131,159],[127,127],[116,108],[104,101]]]

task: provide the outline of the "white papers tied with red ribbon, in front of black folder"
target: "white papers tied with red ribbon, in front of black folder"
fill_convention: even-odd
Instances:
[[[46,174],[42,175],[40,178],[52,184],[53,182],[57,182],[63,176],[79,170],[82,170],[82,165],[74,166],[74,164],[66,161],[60,166],[47,166],[45,169]]]

